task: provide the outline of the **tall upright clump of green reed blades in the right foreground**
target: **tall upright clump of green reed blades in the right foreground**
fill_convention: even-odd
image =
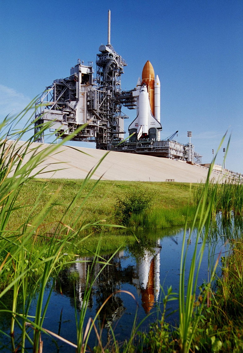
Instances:
[[[212,166],[211,166],[212,168]],[[181,352],[188,353],[191,349],[193,338],[198,327],[199,319],[203,311],[204,302],[207,297],[207,292],[210,289],[215,270],[217,268],[218,260],[214,266],[214,269],[211,273],[211,276],[208,280],[208,283],[205,284],[205,294],[202,300],[201,305],[195,306],[196,293],[198,287],[198,274],[205,251],[205,245],[208,237],[208,232],[210,229],[210,219],[212,214],[212,208],[214,204],[214,196],[216,195],[217,187],[212,190],[210,195],[210,201],[207,204],[208,198],[208,185],[211,169],[209,170],[207,181],[205,183],[204,192],[201,195],[201,198],[198,202],[198,207],[195,213],[194,221],[192,223],[192,229],[195,226],[197,216],[199,215],[198,231],[197,231],[197,240],[195,242],[193,257],[191,260],[191,266],[189,268],[189,278],[187,283],[185,283],[185,263],[187,258],[187,246],[186,246],[186,230],[183,235],[183,247],[181,253],[181,268],[180,268],[180,286],[179,286],[179,345]],[[210,189],[211,190],[211,189]],[[186,229],[186,228],[185,228]],[[189,236],[191,237],[192,231]],[[203,235],[203,237],[202,237]],[[198,242],[199,239],[203,238],[202,245],[198,251]],[[185,253],[184,253],[185,249]],[[186,292],[185,292],[186,287]],[[186,298],[186,299],[185,299]]]

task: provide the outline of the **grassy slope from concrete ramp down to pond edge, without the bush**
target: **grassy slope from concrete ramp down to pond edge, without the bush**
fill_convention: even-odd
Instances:
[[[91,196],[89,196],[85,202],[85,205],[80,209],[82,201],[95,183],[96,181],[90,181],[86,185],[82,197],[80,197],[75,203],[75,209],[80,213],[80,225],[100,220],[106,224],[119,224],[119,221],[115,217],[116,200],[117,198],[124,198],[127,195],[130,195],[130,193],[136,189],[139,189],[144,195],[148,196],[148,200],[152,200],[151,208],[148,210],[148,218],[151,219],[154,227],[156,227],[156,224],[159,228],[170,227],[172,225],[182,225],[184,222],[184,216],[178,216],[178,210],[182,210],[182,213],[186,216],[186,210],[192,201],[190,184],[100,181]],[[56,221],[61,218],[66,210],[66,205],[68,205],[75,197],[81,184],[82,180],[30,180],[24,185],[18,196],[18,200],[25,204],[34,204],[40,190],[45,186],[44,192],[41,196],[41,207],[58,190],[55,197],[56,205],[48,215],[46,225],[43,225],[51,236],[52,230],[56,227]],[[25,208],[24,211],[15,211],[8,225],[9,229],[16,229],[16,226],[20,225],[21,222],[26,219],[26,212],[28,212],[28,210],[30,211],[30,209],[31,208]],[[39,211],[39,209],[36,209],[35,214]],[[66,224],[71,224],[70,217],[66,219],[66,222]],[[132,220],[131,223],[131,226],[134,226],[136,220]],[[118,237],[116,232],[107,232],[107,229],[108,228],[105,228],[106,232],[102,232],[101,250],[114,250],[117,248],[117,245],[123,246],[135,241],[131,232],[119,232]],[[92,235],[92,237],[87,239],[85,244],[82,243],[82,249],[86,247],[89,250],[94,250],[100,231],[100,226],[93,227],[92,230],[89,230],[89,233],[92,232],[95,236]],[[85,234],[87,234],[87,232],[85,232]]]

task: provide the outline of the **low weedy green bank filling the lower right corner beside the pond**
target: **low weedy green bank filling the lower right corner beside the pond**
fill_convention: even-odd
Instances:
[[[217,261],[213,264],[214,269],[216,265]],[[161,318],[150,326],[147,333],[139,334],[137,345],[131,352],[243,352],[242,237],[231,240],[229,255],[221,257],[221,272],[215,275],[214,285],[209,284],[210,281],[204,283],[198,298],[193,291],[192,297],[188,296],[189,283],[186,293],[181,290],[183,295],[186,294],[181,298],[186,309],[181,310],[186,318],[184,327],[181,324],[179,328],[168,325],[162,312]],[[176,300],[175,293],[171,292],[172,289],[168,288],[168,293],[164,293],[164,307],[168,300]]]

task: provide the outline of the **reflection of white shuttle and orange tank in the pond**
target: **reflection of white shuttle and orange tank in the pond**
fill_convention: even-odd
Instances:
[[[138,281],[133,280],[141,290],[142,306],[146,313],[154,306],[154,302],[158,300],[160,294],[160,240],[157,246],[152,249],[154,252],[144,250],[143,257],[137,261]]]

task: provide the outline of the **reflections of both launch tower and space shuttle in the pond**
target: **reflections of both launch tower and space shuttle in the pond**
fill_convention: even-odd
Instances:
[[[113,257],[110,264],[114,266],[107,266],[102,271],[102,276],[96,278],[94,287],[95,291],[99,293],[96,299],[90,299],[96,305],[102,304],[102,301],[111,293],[116,292],[118,288],[121,288],[122,283],[130,283],[135,285],[137,288],[138,295],[141,294],[142,306],[146,313],[149,313],[154,306],[155,301],[158,300],[160,294],[160,251],[161,245],[158,240],[151,250],[144,249],[143,255],[137,259],[136,268],[129,266],[123,268],[121,260],[123,253],[119,253],[118,256]],[[107,256],[108,259],[108,256]],[[75,262],[75,267],[79,273],[79,281],[76,284],[77,299],[79,300],[80,307],[83,303],[83,293],[86,287],[88,265],[87,261],[92,261],[91,258],[80,258]],[[96,264],[94,268],[95,274],[98,274],[101,267],[100,264]],[[93,292],[93,295],[94,292]],[[93,295],[91,297],[93,297]],[[91,303],[89,303],[90,305]],[[109,322],[116,321],[122,316],[125,310],[123,301],[118,296],[112,297],[112,304],[107,303],[107,307],[104,309],[106,320]]]

